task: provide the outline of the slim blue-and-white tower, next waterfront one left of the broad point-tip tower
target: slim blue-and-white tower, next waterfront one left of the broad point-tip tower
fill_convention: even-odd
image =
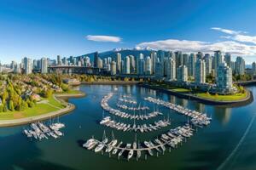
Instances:
[[[195,84],[206,83],[206,62],[203,59],[197,59],[195,62]]]

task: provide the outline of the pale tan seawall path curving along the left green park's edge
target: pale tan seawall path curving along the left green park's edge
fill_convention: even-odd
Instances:
[[[66,107],[63,109],[60,109],[57,111],[51,111],[49,113],[45,113],[39,116],[31,116],[31,117],[12,119],[12,120],[3,120],[3,121],[0,121],[0,127],[14,127],[14,126],[28,124],[31,122],[43,121],[51,117],[67,114],[70,111],[73,111],[75,109],[75,105],[68,103],[61,98],[80,98],[85,96],[83,92],[79,94],[53,94],[53,95],[56,100],[61,102],[61,104],[66,105]]]

